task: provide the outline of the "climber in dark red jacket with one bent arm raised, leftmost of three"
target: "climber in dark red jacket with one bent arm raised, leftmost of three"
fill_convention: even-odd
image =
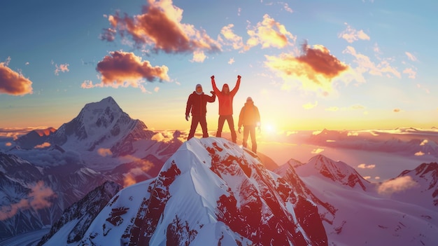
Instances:
[[[207,102],[214,102],[216,100],[216,94],[211,91],[211,96],[205,95],[202,91],[200,84],[196,85],[195,91],[190,94],[187,100],[187,106],[185,107],[185,120],[189,121],[189,114],[192,113],[192,125],[190,125],[190,132],[187,139],[191,139],[195,136],[195,131],[198,123],[202,128],[202,137],[209,137],[207,132]]]

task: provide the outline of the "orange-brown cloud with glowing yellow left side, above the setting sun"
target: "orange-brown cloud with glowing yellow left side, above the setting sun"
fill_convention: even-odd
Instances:
[[[283,80],[302,83],[305,90],[332,90],[332,80],[349,69],[348,65],[330,54],[324,46],[313,48],[307,43],[302,46],[304,55],[295,57],[283,53],[280,56],[265,55],[267,67],[276,72]]]

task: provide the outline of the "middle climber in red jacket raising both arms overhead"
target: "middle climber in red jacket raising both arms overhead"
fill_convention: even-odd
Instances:
[[[232,142],[236,142],[236,130],[234,130],[234,120],[233,120],[233,98],[236,95],[237,90],[239,90],[241,76],[237,76],[236,86],[232,90],[229,90],[229,86],[225,83],[222,86],[222,90],[219,90],[216,86],[216,81],[214,80],[214,75],[211,76],[211,86],[213,86],[213,91],[218,96],[219,100],[219,119],[218,119],[218,131],[216,132],[216,137],[221,137],[222,128],[224,126],[225,120],[228,122],[229,130],[231,131]]]

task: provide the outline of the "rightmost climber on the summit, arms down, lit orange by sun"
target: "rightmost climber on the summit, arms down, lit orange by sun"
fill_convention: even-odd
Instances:
[[[259,109],[254,105],[253,98],[248,97],[245,105],[242,107],[239,114],[239,133],[243,125],[243,140],[242,145],[246,148],[248,135],[251,136],[251,150],[257,153],[257,142],[255,141],[255,127],[258,127],[260,132],[260,113]]]

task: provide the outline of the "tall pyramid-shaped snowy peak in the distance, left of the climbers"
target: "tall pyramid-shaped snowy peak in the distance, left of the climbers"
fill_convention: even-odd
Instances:
[[[113,97],[85,104],[76,118],[64,123],[49,137],[50,144],[63,148],[94,151],[111,149],[115,156],[132,151],[134,139],[148,139],[153,133],[146,125],[126,114]]]

